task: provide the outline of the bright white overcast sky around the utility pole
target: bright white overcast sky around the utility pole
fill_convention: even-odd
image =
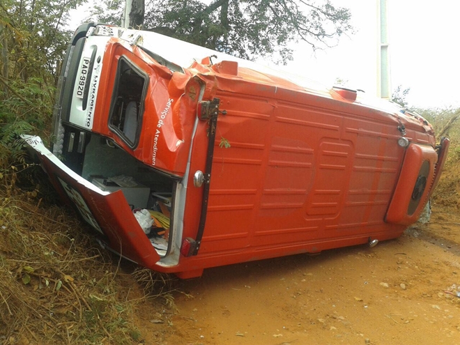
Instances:
[[[342,79],[348,87],[377,95],[377,1],[331,0],[351,10],[355,34],[315,53],[307,43],[293,45],[288,70],[328,88]],[[412,107],[460,107],[460,49],[454,36],[459,31],[460,1],[387,1],[392,89],[410,88],[406,100]]]

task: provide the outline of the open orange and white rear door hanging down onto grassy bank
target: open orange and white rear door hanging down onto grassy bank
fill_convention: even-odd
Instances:
[[[43,145],[40,137],[23,135],[22,138],[38,155],[61,197],[77,209],[114,252],[147,267],[160,260],[121,190],[112,193],[100,190],[66,167]]]

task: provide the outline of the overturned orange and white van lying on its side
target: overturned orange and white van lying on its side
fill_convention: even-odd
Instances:
[[[98,24],[68,47],[52,148],[24,139],[102,245],[182,278],[397,238],[449,146],[360,91]]]

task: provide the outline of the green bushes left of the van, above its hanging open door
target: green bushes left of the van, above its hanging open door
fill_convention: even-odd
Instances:
[[[70,31],[68,11],[84,0],[0,3],[0,169],[23,162],[19,135],[47,137],[60,61]]]

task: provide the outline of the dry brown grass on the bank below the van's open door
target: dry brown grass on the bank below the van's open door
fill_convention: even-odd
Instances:
[[[121,268],[34,169],[22,189],[20,169],[0,176],[0,344],[139,344],[135,306],[171,280]]]

